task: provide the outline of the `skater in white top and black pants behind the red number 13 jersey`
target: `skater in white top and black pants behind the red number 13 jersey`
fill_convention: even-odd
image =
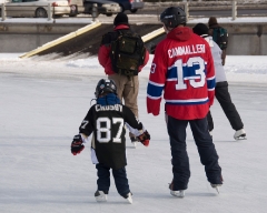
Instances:
[[[224,65],[221,64],[221,49],[216,42],[214,42],[212,37],[208,36],[208,27],[205,23],[198,23],[192,28],[194,33],[204,38],[210,45],[211,54],[215,64],[215,97],[218,100],[220,106],[222,108],[231,128],[236,131],[234,134],[235,140],[245,139],[246,132],[244,130],[244,123],[235,104],[231,102],[230,93],[228,91],[228,82],[226,79],[226,73]],[[214,120],[210,110],[207,115],[209,133],[212,135]]]

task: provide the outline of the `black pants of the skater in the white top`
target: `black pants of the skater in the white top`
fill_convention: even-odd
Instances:
[[[240,115],[238,114],[236,106],[231,102],[230,93],[228,91],[228,82],[218,82],[215,88],[215,97],[218,100],[220,106],[222,108],[230,125],[234,130],[240,130],[244,128]],[[210,111],[207,115],[209,131],[214,130],[214,121]]]

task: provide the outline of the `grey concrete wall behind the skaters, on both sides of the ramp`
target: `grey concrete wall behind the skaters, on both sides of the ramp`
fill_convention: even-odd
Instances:
[[[0,52],[28,52],[86,24],[0,23]],[[194,27],[195,24],[189,27]],[[221,24],[228,30],[227,54],[266,55],[266,23]]]

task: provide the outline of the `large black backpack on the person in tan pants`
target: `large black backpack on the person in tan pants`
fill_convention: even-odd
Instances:
[[[116,73],[127,77],[138,75],[138,68],[144,64],[145,45],[140,36],[118,31],[118,38],[111,42],[110,58]]]

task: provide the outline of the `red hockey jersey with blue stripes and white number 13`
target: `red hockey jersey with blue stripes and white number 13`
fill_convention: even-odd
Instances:
[[[179,120],[202,119],[214,103],[215,69],[209,44],[188,27],[171,30],[156,48],[147,88],[147,111]]]

